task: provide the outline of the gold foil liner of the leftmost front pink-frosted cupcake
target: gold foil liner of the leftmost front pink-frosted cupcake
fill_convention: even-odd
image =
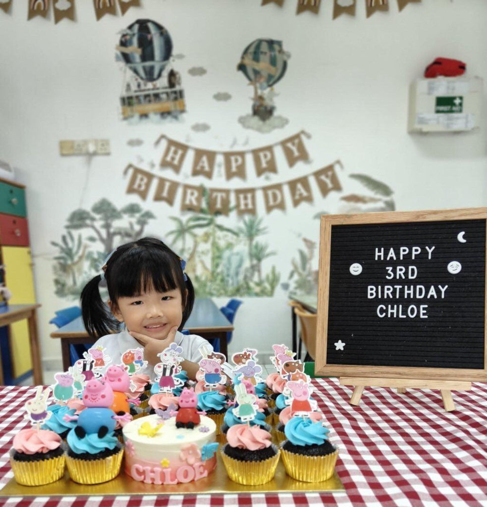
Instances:
[[[17,461],[10,453],[10,464],[15,480],[22,486],[44,486],[58,481],[64,475],[64,454],[56,458],[42,459],[39,461]]]

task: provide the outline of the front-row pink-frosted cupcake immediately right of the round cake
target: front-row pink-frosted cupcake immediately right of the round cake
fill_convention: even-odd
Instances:
[[[228,443],[221,449],[228,477],[251,486],[271,481],[280,455],[271,440],[271,434],[258,425],[236,424],[229,428]]]

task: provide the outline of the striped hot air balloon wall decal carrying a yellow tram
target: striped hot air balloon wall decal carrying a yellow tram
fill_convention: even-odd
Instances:
[[[116,49],[125,63],[120,95],[124,119],[186,111],[181,75],[172,68],[172,39],[162,25],[137,19],[122,30]]]

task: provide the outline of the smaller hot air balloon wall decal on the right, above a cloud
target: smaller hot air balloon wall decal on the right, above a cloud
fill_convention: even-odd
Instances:
[[[254,87],[252,115],[262,121],[274,113],[274,85],[283,79],[288,66],[288,54],[282,41],[256,39],[244,50],[237,65],[243,75]]]

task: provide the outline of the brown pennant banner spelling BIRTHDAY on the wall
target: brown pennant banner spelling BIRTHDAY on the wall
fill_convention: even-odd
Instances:
[[[234,209],[238,215],[256,214],[256,195],[261,191],[264,197],[264,206],[267,213],[274,209],[286,210],[284,187],[288,187],[293,207],[299,206],[302,202],[313,202],[313,193],[310,185],[310,176],[314,176],[318,189],[323,198],[327,197],[332,191],[341,191],[342,187],[335,170],[335,166],[341,167],[339,160],[317,171],[292,179],[289,182],[267,185],[258,188],[245,189],[208,189],[208,207],[210,213],[221,213],[228,215],[230,213],[230,194],[234,196]],[[156,190],[153,195],[154,201],[164,201],[170,206],[175,203],[176,194],[181,188],[181,211],[199,212],[203,206],[203,186],[186,185],[174,182],[167,178],[156,176],[155,174],[129,164],[125,170],[126,174],[131,170],[127,194],[136,194],[142,200],[146,200],[154,180],[157,182]]]

